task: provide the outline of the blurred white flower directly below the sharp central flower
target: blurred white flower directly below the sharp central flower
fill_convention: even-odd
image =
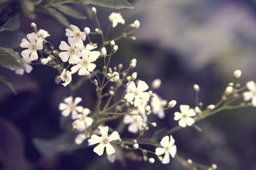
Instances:
[[[144,118],[141,118],[142,114]],[[132,115],[125,115],[124,117],[124,124],[129,124],[128,131],[131,133],[136,134],[137,132],[141,131],[143,127],[147,126],[147,116],[145,115],[145,108],[140,110],[132,110]]]

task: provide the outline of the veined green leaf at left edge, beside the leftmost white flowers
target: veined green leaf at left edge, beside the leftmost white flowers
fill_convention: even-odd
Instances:
[[[12,48],[0,47],[0,66],[8,69],[23,69],[19,60],[19,55],[13,52]]]

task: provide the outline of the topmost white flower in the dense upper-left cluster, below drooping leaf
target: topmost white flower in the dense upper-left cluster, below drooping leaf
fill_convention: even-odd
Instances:
[[[84,32],[81,32],[79,27],[77,27],[76,25],[70,25],[71,29],[66,29],[66,36],[72,37],[75,39],[75,42],[78,45],[83,45],[83,41],[86,38],[86,34]]]

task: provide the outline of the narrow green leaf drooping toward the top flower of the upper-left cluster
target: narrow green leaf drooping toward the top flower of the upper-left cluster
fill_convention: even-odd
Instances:
[[[41,8],[38,10],[42,13],[45,13],[46,15],[51,15],[52,17],[56,18],[56,20],[58,20],[62,25],[69,27],[70,23],[68,22],[67,18],[54,8]]]

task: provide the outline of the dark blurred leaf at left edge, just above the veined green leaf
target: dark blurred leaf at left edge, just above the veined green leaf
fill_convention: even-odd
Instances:
[[[0,37],[0,46],[17,48],[20,46],[22,38],[25,38],[25,34],[19,31],[3,31],[0,32]]]

